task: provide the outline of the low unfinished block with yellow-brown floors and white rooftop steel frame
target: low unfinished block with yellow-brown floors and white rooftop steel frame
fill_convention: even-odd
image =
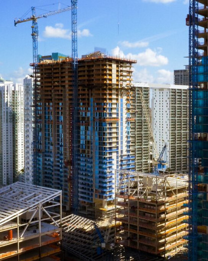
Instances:
[[[117,170],[116,242],[165,258],[184,249],[188,181],[181,176]]]

